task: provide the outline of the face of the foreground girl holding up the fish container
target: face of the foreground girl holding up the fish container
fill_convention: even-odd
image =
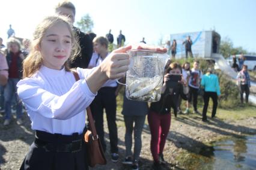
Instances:
[[[55,23],[47,29],[40,43],[43,65],[61,69],[72,50],[72,34],[66,23]]]

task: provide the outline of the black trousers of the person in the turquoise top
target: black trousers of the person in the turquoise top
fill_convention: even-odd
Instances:
[[[215,117],[216,110],[218,107],[218,95],[216,92],[204,92],[204,108],[203,108],[203,120],[207,120],[207,109],[209,105],[209,99],[212,98],[213,100],[213,110],[212,110],[212,117]]]

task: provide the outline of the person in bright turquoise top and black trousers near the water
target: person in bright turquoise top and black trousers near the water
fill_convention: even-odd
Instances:
[[[203,122],[207,122],[207,108],[209,104],[209,99],[213,100],[213,110],[212,118],[216,115],[216,110],[218,107],[218,96],[221,95],[221,90],[219,88],[219,80],[216,74],[213,74],[213,69],[207,69],[207,73],[203,75],[201,80],[201,86],[204,87],[204,108],[203,108]]]

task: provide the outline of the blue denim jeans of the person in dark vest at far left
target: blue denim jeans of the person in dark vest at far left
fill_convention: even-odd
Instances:
[[[4,89],[5,98],[5,119],[11,119],[11,105],[13,104],[13,98],[16,101],[16,116],[20,119],[22,116],[22,102],[17,95],[17,83],[19,78],[9,78],[8,83]]]

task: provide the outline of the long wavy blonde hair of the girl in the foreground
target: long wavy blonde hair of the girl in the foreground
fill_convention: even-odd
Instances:
[[[40,50],[38,50],[38,47],[40,47],[41,41],[47,29],[57,23],[65,23],[70,31],[70,34],[72,35],[72,51],[70,53],[69,60],[73,60],[75,56],[78,56],[80,52],[80,47],[76,38],[76,33],[72,29],[73,26],[69,22],[69,18],[65,16],[46,17],[41,23],[39,23],[39,25],[37,25],[37,28],[35,29],[35,32],[33,34],[30,52],[28,54],[28,57],[26,57],[26,59],[23,61],[23,78],[31,77],[33,74],[35,74],[35,72],[40,69],[43,60],[41,52]],[[66,71],[70,71],[68,63],[69,60],[64,63]]]

